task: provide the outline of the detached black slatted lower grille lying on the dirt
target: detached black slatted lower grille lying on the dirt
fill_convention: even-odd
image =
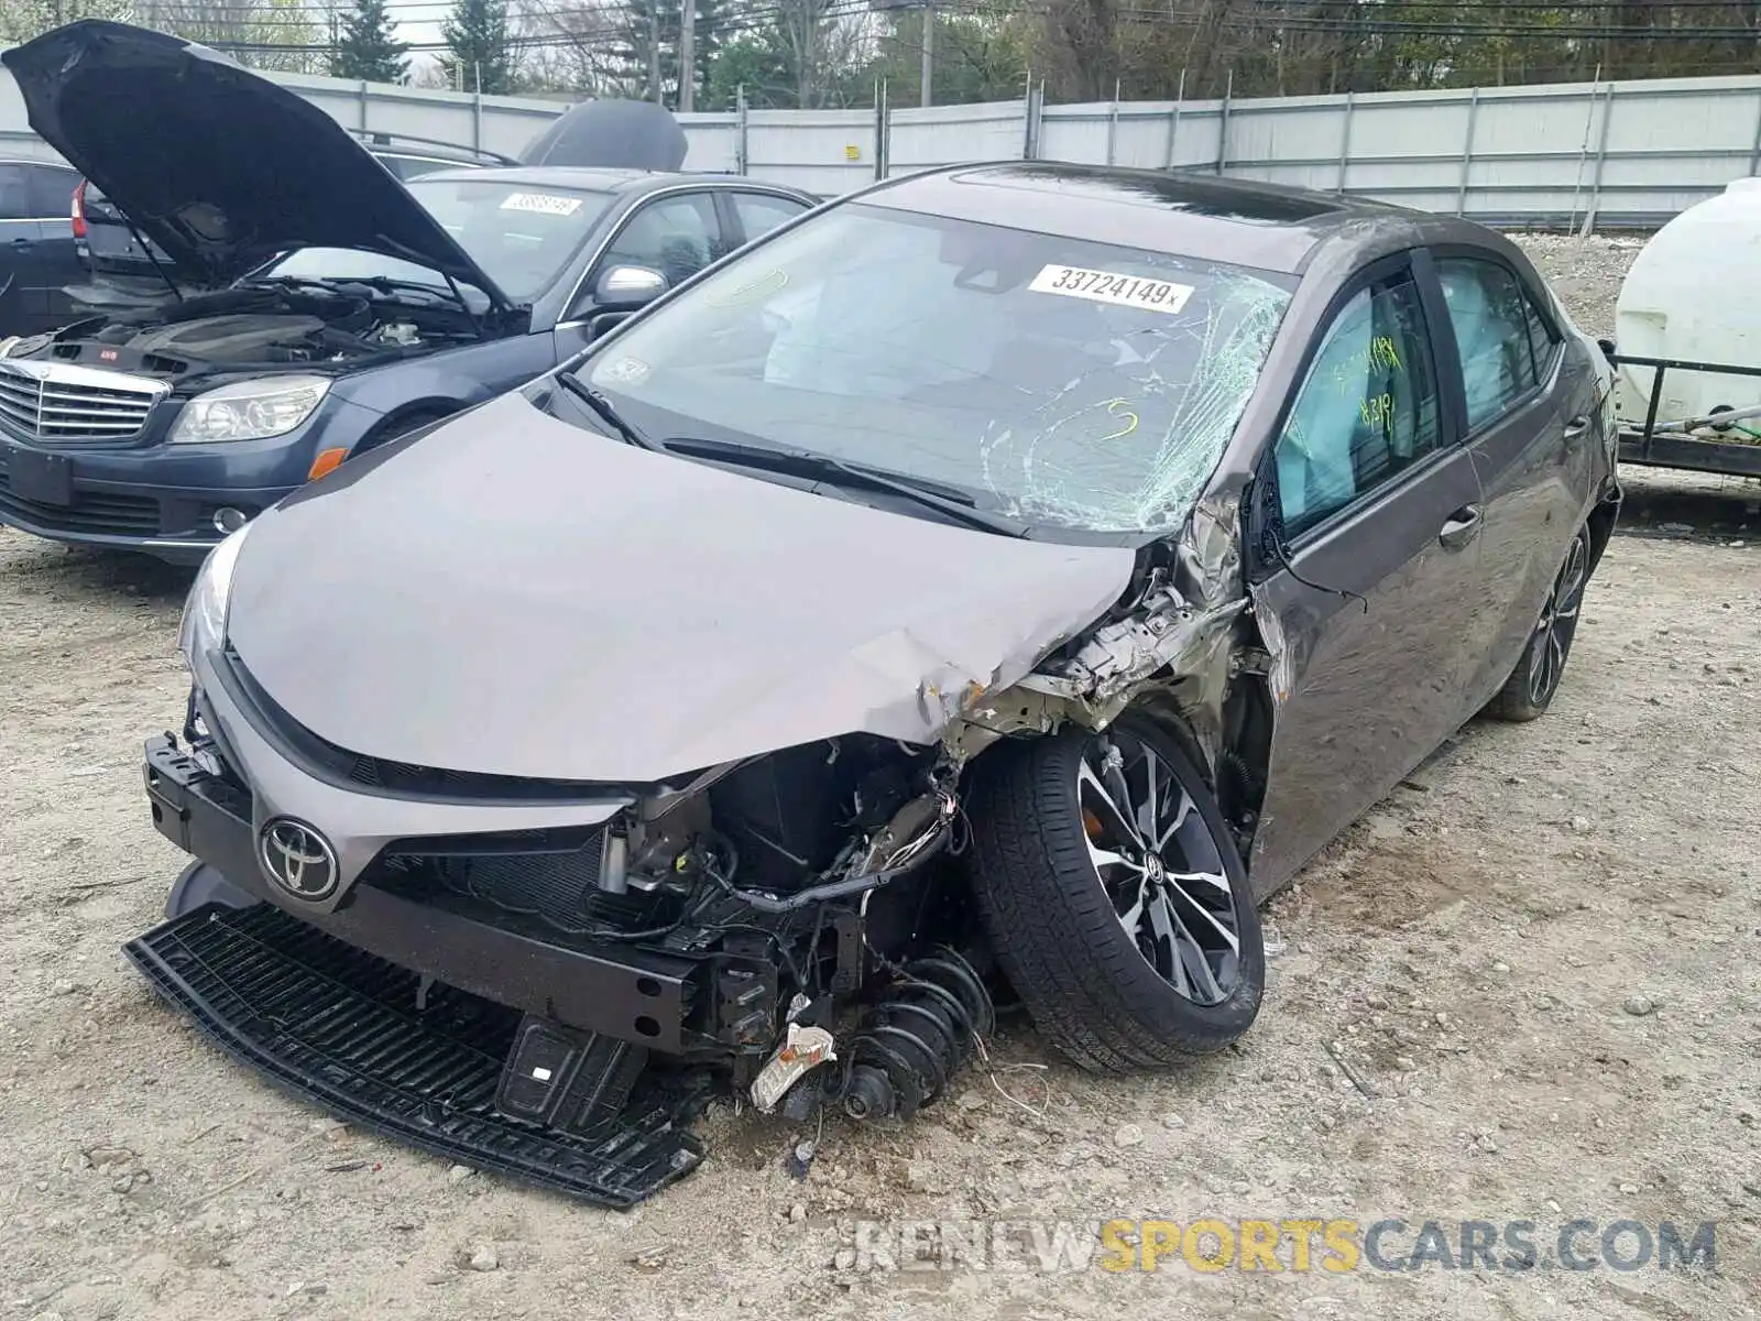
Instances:
[[[601,1207],[630,1207],[703,1161],[680,1124],[701,1090],[645,1076],[593,1138],[495,1108],[519,1015],[414,972],[268,904],[195,909],[123,953],[225,1052],[363,1127]]]

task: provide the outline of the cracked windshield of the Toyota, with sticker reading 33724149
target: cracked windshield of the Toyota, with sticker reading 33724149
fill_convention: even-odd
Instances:
[[[579,373],[653,439],[740,437],[1085,532],[1180,525],[1294,282],[847,204],[754,248]]]

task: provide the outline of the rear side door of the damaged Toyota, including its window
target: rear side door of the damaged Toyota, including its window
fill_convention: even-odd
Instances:
[[[1467,622],[1477,710],[1522,655],[1578,528],[1595,400],[1594,384],[1562,370],[1548,299],[1499,254],[1439,250],[1435,269],[1448,308],[1442,361],[1462,380],[1463,437],[1485,493],[1485,594]]]

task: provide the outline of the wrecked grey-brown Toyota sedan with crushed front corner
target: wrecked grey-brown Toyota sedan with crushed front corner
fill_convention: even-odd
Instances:
[[[630,277],[632,280],[636,277]],[[211,555],[134,962],[356,1122],[606,1205],[717,1092],[910,1115],[998,997],[1252,1023],[1256,905],[1560,683],[1610,372],[1458,220],[875,185]]]

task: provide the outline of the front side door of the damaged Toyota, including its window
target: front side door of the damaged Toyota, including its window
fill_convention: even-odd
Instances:
[[[1479,481],[1453,444],[1432,336],[1409,262],[1372,268],[1321,331],[1261,467],[1287,555],[1252,587],[1275,653],[1257,895],[1460,722]]]

